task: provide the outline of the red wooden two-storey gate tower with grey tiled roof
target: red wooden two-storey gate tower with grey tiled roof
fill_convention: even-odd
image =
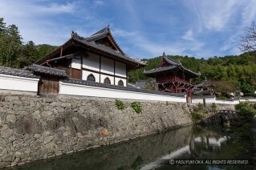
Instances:
[[[190,80],[201,75],[186,69],[180,62],[168,58],[165,53],[159,66],[151,71],[144,71],[144,74],[156,79],[159,91],[185,93],[188,101],[191,99],[191,92],[195,87]]]

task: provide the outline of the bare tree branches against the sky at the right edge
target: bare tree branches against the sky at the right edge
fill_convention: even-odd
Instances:
[[[250,26],[244,29],[244,34],[238,45],[242,52],[256,51],[256,23],[252,22]]]

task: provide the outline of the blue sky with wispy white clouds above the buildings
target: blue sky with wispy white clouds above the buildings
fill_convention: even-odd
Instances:
[[[23,42],[61,45],[71,30],[88,36],[110,25],[124,52],[138,59],[168,55],[238,55],[239,36],[256,21],[255,0],[0,0],[0,17]]]

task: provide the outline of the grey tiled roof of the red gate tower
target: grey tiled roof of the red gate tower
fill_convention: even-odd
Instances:
[[[164,71],[172,71],[175,68],[180,68],[181,70],[189,72],[189,74],[191,74],[191,75],[194,75],[194,76],[200,76],[201,75],[200,73],[190,71],[189,69],[183,67],[180,62],[177,62],[174,59],[168,58],[165,55],[165,52],[162,56],[162,59],[164,59],[167,63],[169,63],[169,66],[156,67],[156,68],[152,69],[151,71],[144,71],[144,74],[145,75],[152,75],[152,74],[161,73],[161,72],[164,72]]]

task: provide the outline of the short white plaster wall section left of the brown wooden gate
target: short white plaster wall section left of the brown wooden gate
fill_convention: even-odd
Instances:
[[[37,92],[38,85],[39,79],[0,75],[0,89],[2,90]]]

